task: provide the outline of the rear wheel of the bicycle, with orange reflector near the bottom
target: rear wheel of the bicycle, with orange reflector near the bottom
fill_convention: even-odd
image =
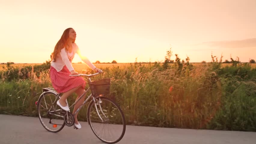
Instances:
[[[40,96],[37,104],[39,120],[41,124],[47,131],[54,133],[61,131],[65,126],[65,122],[63,120],[63,112],[61,108],[56,104],[56,101],[59,98],[56,98],[57,95],[53,92],[45,92]]]

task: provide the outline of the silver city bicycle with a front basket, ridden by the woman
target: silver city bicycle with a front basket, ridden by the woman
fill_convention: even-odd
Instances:
[[[69,108],[73,107],[91,90],[91,94],[78,107],[74,115],[90,100],[87,107],[87,122],[93,133],[104,143],[117,143],[123,138],[125,133],[125,118],[120,107],[111,99],[104,97],[104,95],[110,93],[110,78],[95,81],[90,79],[92,76],[100,73],[102,72],[89,75],[69,75],[86,76],[89,84],[89,88]],[[74,115],[70,111],[62,110],[56,104],[60,96],[61,93],[56,92],[53,88],[43,88],[43,93],[38,98],[38,101],[36,101],[41,124],[47,131],[54,133],[61,131],[65,125],[73,126],[75,123]],[[68,105],[67,100],[66,104]],[[76,127],[74,126],[74,128]],[[108,131],[106,132],[105,129],[108,129]]]

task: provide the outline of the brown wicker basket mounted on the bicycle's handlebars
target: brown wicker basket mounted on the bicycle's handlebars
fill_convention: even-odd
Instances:
[[[92,95],[106,95],[110,93],[110,78],[99,79],[89,83]]]

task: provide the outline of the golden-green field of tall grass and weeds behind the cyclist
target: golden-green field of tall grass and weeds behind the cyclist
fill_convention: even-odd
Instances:
[[[105,73],[93,80],[111,78],[107,97],[121,107],[127,125],[256,131],[256,64],[176,64],[166,69],[160,63],[95,64]],[[8,70],[1,65],[5,71],[0,70],[0,114],[38,117],[35,101],[42,88],[52,87],[45,71],[49,63],[15,68],[29,65],[37,64],[12,64],[14,69]],[[89,69],[86,64],[73,67],[79,73]],[[75,99],[73,95],[69,102]],[[78,118],[87,120],[86,109]]]

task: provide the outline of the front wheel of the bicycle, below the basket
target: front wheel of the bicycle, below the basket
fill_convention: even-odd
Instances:
[[[87,119],[93,133],[102,142],[117,143],[125,133],[125,119],[120,107],[111,99],[97,97],[91,101]]]

